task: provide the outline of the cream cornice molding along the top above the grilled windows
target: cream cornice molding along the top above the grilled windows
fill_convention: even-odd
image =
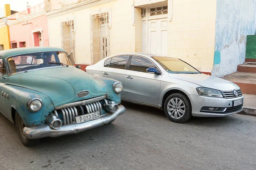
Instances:
[[[56,9],[54,11],[47,12],[46,15],[48,18],[56,17],[62,14],[67,14],[73,11],[78,11],[84,8],[89,8],[92,6],[97,6],[102,3],[109,3],[116,0],[86,0],[82,1],[80,3],[75,3],[69,6],[65,6],[63,8]]]

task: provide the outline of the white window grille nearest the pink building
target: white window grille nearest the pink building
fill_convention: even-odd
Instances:
[[[67,51],[67,54],[73,53],[73,63],[75,63],[75,30],[74,20],[68,20],[61,23],[61,48]]]

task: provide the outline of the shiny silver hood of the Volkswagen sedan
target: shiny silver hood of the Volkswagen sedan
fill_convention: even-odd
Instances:
[[[209,76],[206,74],[171,74],[169,76],[175,79],[184,80],[187,82],[192,82],[198,84],[202,87],[217,89],[220,91],[233,91],[238,90],[239,86],[233,82],[227,81],[214,76]]]

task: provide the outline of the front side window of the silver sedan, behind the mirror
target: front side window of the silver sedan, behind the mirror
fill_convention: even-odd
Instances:
[[[156,65],[154,65],[154,63],[149,59],[139,56],[132,56],[129,70],[146,73],[146,70],[150,67],[157,69]]]

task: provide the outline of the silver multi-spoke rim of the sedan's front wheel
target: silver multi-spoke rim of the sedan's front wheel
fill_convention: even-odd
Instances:
[[[167,111],[172,118],[180,119],[185,114],[186,106],[180,98],[175,97],[169,100]]]

